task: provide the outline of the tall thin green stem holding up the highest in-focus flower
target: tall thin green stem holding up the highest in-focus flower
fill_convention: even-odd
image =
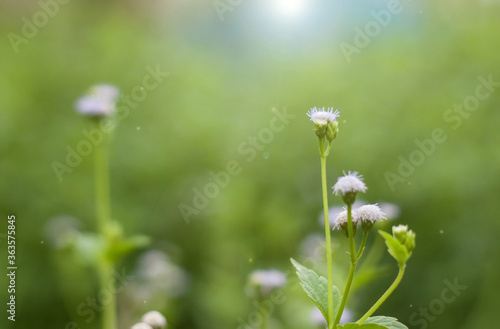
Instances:
[[[321,141],[320,141],[321,147]],[[333,271],[332,243],[330,240],[330,220],[328,218],[328,191],[326,187],[326,156],[321,156],[321,186],[323,190],[323,211],[325,214],[326,268],[328,271],[328,326],[333,328]]]

